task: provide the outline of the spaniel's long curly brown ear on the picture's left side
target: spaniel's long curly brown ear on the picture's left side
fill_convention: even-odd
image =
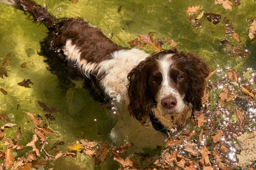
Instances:
[[[143,121],[143,117],[147,116],[150,109],[154,106],[154,98],[148,88],[148,72],[147,64],[153,60],[153,57],[147,57],[134,67],[128,74],[127,96],[129,98],[128,109],[130,115],[139,121]]]

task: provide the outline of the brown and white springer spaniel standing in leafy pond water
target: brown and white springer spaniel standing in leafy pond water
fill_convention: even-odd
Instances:
[[[41,45],[52,69],[90,80],[97,94],[124,104],[145,126],[173,133],[200,109],[210,69],[196,55],[175,48],[153,54],[124,49],[81,18],[57,19],[32,0],[0,2],[48,28]]]

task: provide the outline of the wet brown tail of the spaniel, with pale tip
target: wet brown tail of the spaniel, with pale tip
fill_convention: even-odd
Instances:
[[[22,10],[33,17],[34,22],[43,23],[49,30],[55,27],[57,19],[47,11],[47,7],[37,5],[32,0],[0,0],[1,3]]]

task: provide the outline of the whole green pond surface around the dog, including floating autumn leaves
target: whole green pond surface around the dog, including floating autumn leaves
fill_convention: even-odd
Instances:
[[[81,80],[59,81],[47,69],[44,56],[38,55],[46,27],[0,4],[1,166],[256,168],[256,148],[251,145],[256,135],[255,1],[36,2],[47,5],[57,18],[82,17],[122,47],[150,53],[176,47],[218,70],[207,82],[202,110],[173,139],[157,141],[152,136],[151,141],[158,143],[154,147],[143,139],[113,141],[110,133],[122,111],[93,98]],[[139,35],[158,43],[142,43]]]

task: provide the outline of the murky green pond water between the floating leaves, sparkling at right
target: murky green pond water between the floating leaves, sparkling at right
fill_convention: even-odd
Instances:
[[[86,19],[92,25],[100,27],[106,36],[120,46],[131,48],[132,46],[127,44],[128,41],[138,38],[139,34],[147,35],[149,32],[155,32],[154,37],[163,41],[164,49],[173,47],[167,42],[173,39],[178,43],[176,46],[178,50],[196,53],[206,60],[212,70],[219,68],[207,84],[210,100],[204,103],[201,111],[205,115],[206,122],[198,127],[194,125],[196,122],[191,121],[177,136],[187,134],[194,129],[195,136],[192,143],[197,143],[198,149],[206,146],[212,154],[213,150],[218,148],[223,159],[225,158],[224,162],[227,160],[228,168],[238,162],[236,154],[240,153],[238,148],[235,148],[236,137],[245,131],[253,134],[256,124],[256,39],[250,39],[248,36],[249,28],[253,20],[256,20],[254,0],[242,1],[238,6],[235,5],[238,1],[232,0],[230,1],[233,3],[232,10],[226,10],[222,4],[214,4],[214,0],[78,0],[77,2],[75,0],[36,0],[36,2],[47,5],[49,12],[57,18],[82,17]],[[201,8],[196,14],[189,16],[186,10],[191,6],[201,6]],[[219,14],[222,19],[217,24],[208,21],[206,16],[195,19],[202,11]],[[240,42],[232,37],[234,32],[238,34]],[[231,33],[231,36],[226,36],[225,33]],[[46,36],[45,26],[28,20],[27,16],[19,10],[0,4],[0,63],[5,61],[7,54],[12,53],[11,62],[8,62],[7,66],[0,65],[7,70],[7,77],[0,78],[0,88],[3,89],[0,93],[0,114],[2,114],[0,125],[3,126],[8,122],[17,124],[12,128],[6,128],[4,136],[15,138],[20,126],[22,135],[18,142],[26,146],[35,134],[33,121],[27,113],[24,113],[29,112],[34,113],[35,117],[42,118],[45,123],[44,127],[47,125],[55,133],[54,135],[47,134],[45,151],[51,155],[59,151],[69,152],[68,146],[83,138],[99,142],[96,150],[99,150],[104,142],[108,143],[109,149],[106,161],[102,160],[99,166],[95,165],[94,157],[78,151],[74,152],[76,158],[69,155],[52,161],[45,160],[43,156],[45,153],[41,152],[41,157],[37,157],[38,160],[34,161],[33,167],[38,169],[118,169],[120,165],[112,158],[113,147],[127,144],[132,140],[131,138],[134,138],[134,146],[130,147],[122,157],[136,160],[139,164],[137,168],[156,166],[153,163],[158,156],[163,157],[163,150],[166,149],[166,147],[156,149],[157,145],[164,146],[166,138],[157,138],[152,135],[147,139],[141,139],[140,136],[121,135],[113,141],[110,133],[121,119],[118,115],[122,111],[104,107],[105,104],[91,96],[90,90],[83,88],[82,81],[73,81],[72,84],[59,82],[58,77],[47,69],[44,63],[45,58],[38,55],[39,42]],[[150,46],[145,46],[143,49],[147,52],[154,52]],[[237,80],[228,77],[228,72],[236,72]],[[236,73],[232,74],[233,77]],[[24,79],[25,81],[29,79],[33,83],[29,84],[30,88],[17,85]],[[234,85],[234,82],[238,85]],[[219,95],[225,87],[229,91],[229,98],[235,94],[235,91],[237,92],[230,101],[225,99],[225,104],[222,105]],[[244,91],[249,91],[252,95],[249,96]],[[49,115],[49,112],[43,111],[38,101],[45,103],[48,107],[53,106],[59,111]],[[237,114],[239,109],[243,111],[245,117],[241,125],[241,119]],[[199,120],[198,115],[201,112],[195,114],[195,120]],[[203,136],[202,130],[206,131]],[[213,142],[210,136],[214,136],[216,130],[223,130],[224,134],[221,141]],[[134,129],[131,128],[130,131]],[[183,139],[182,141],[184,142]],[[183,151],[180,145],[181,143],[177,145],[179,147],[173,147],[170,150],[180,150],[183,157],[190,155]],[[221,150],[221,147],[226,147],[228,151]],[[0,142],[0,148],[0,154],[3,154],[6,150],[3,141]],[[17,153],[15,160],[28,155],[31,150],[31,147],[24,147],[22,151],[17,152],[13,150]],[[200,152],[199,155],[203,154]],[[3,158],[3,155],[0,156]],[[200,156],[194,156],[196,160],[195,157],[198,157],[198,163]],[[2,162],[4,163],[4,160]],[[251,163],[253,164],[253,161]],[[216,164],[216,158],[213,156],[210,158],[210,164],[212,167]],[[170,167],[175,166],[178,167],[179,164],[176,162],[170,165]],[[200,166],[203,167],[201,164]],[[244,165],[235,168],[239,169],[240,166]]]

